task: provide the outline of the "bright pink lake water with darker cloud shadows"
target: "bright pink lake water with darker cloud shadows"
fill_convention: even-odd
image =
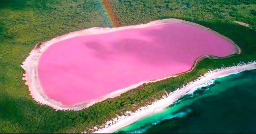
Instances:
[[[40,57],[38,75],[49,98],[70,106],[185,72],[201,55],[224,57],[234,49],[198,27],[161,24],[58,42]]]

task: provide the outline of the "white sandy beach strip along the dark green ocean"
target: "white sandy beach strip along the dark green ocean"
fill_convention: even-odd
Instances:
[[[130,114],[129,116],[119,116],[111,121],[106,122],[104,125],[100,127],[95,127],[97,131],[95,131],[94,133],[113,133],[125,126],[128,126],[129,124],[135,122],[136,120],[144,116],[150,115],[154,112],[159,112],[160,110],[171,105],[175,100],[177,100],[187,92],[195,90],[197,87],[200,87],[207,81],[252,69],[256,69],[256,62],[248,64],[239,64],[237,66],[225,67],[216,70],[210,70],[204,76],[199,77],[197,80],[189,83],[187,86],[184,86],[181,89],[177,89],[171,92],[168,96],[165,96],[162,99],[154,102],[152,105],[142,107],[140,110],[136,112],[127,112],[128,114]]]

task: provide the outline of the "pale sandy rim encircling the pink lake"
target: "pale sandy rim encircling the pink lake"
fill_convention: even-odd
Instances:
[[[59,36],[56,37],[50,41],[44,42],[42,44],[38,44],[34,47],[34,49],[32,49],[30,55],[26,58],[26,60],[23,62],[22,68],[24,68],[25,70],[25,74],[23,79],[26,80],[26,85],[28,85],[29,90],[31,92],[32,98],[37,101],[40,104],[45,104],[48,105],[56,110],[81,110],[84,108],[88,108],[92,105],[94,105],[97,102],[103,101],[105,99],[108,98],[114,98],[119,96],[120,94],[130,90],[130,89],[134,89],[144,83],[149,83],[149,82],[156,82],[156,81],[160,81],[166,78],[170,78],[170,77],[175,77],[177,75],[183,74],[176,74],[176,75],[171,75],[171,76],[167,76],[164,78],[160,78],[157,80],[151,80],[151,81],[145,81],[145,82],[140,82],[138,84],[129,86],[127,88],[124,89],[119,89],[116,91],[113,91],[105,96],[102,96],[100,98],[96,98],[94,100],[90,100],[87,102],[83,102],[80,104],[76,104],[73,106],[64,106],[62,103],[57,102],[53,99],[48,98],[45,93],[43,92],[42,87],[40,86],[40,82],[38,79],[38,71],[37,71],[37,66],[38,66],[38,62],[39,62],[39,58],[42,55],[42,53],[51,45],[69,39],[69,38],[73,38],[73,37],[77,37],[77,36],[84,36],[84,35],[95,35],[95,34],[103,34],[103,33],[109,33],[109,32],[114,32],[114,31],[118,31],[118,30],[123,30],[123,29],[129,29],[129,28],[144,28],[144,27],[149,27],[149,26],[154,26],[154,25],[160,25],[160,24],[164,24],[164,23],[186,23],[186,24],[191,24],[193,26],[197,26],[199,28],[202,28],[204,30],[207,30],[209,32],[212,32],[220,37],[222,37],[223,39],[227,40],[228,42],[232,43],[234,46],[236,46],[236,50],[234,50],[233,53],[241,53],[241,49],[235,45],[230,39],[228,39],[227,37],[224,37],[223,35],[207,28],[204,27],[202,25],[193,23],[193,22],[187,22],[187,21],[183,21],[183,20],[179,20],[179,19],[164,19],[164,20],[157,20],[157,21],[153,21],[153,22],[149,22],[146,24],[139,24],[139,25],[130,25],[130,26],[124,26],[124,27],[115,27],[115,28],[100,28],[100,27],[93,27],[93,28],[89,28],[89,29],[84,29],[84,30],[80,30],[80,31],[75,31],[75,32],[71,32],[68,34],[65,34],[63,36]],[[205,55],[205,56],[201,56],[198,57],[198,59],[195,61],[193,67],[184,72],[190,72],[198,63],[198,61],[200,61],[203,58],[209,58],[209,56]],[[218,57],[217,57],[218,58]]]

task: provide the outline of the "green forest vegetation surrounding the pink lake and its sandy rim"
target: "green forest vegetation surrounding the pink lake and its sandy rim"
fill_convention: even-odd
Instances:
[[[65,33],[107,26],[96,0],[0,1],[0,133],[81,133],[135,111],[165,92],[193,81],[210,68],[256,60],[255,0],[110,0],[120,25],[179,18],[209,27],[233,40],[240,55],[204,59],[190,73],[150,83],[81,110],[55,111],[38,105],[22,80],[22,62],[32,48]],[[232,21],[249,23],[248,28]]]

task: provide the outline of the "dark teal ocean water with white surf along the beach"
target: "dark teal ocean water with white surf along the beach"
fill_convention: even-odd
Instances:
[[[208,82],[116,133],[256,133],[256,69]]]

